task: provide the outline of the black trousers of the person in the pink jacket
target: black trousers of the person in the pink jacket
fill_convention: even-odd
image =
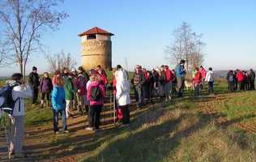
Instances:
[[[90,117],[88,118],[90,127],[92,127],[93,123],[95,122],[95,129],[99,129],[101,109],[102,104],[90,105]]]

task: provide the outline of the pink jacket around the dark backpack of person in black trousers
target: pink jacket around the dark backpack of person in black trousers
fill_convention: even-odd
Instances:
[[[99,85],[99,87],[100,87],[101,100],[92,101],[91,100],[91,87],[97,86],[97,85]],[[87,99],[90,100],[90,105],[104,104],[105,97],[106,97],[106,93],[105,93],[105,87],[103,84],[98,83],[98,82],[92,82],[89,85],[89,87],[87,88]]]

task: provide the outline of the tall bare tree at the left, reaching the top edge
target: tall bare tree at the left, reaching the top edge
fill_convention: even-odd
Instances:
[[[9,40],[11,58],[25,75],[28,58],[41,51],[41,39],[46,32],[58,30],[64,11],[53,10],[64,0],[4,0],[0,2],[3,36]]]

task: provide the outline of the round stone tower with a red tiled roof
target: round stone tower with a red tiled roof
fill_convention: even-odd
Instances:
[[[81,53],[82,66],[85,70],[112,68],[112,41],[113,33],[101,28],[92,28],[79,34],[82,37]]]

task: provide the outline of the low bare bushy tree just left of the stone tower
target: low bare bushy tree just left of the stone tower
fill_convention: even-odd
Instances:
[[[71,53],[65,53],[63,50],[57,54],[45,54],[46,60],[49,62],[49,72],[54,73],[66,67],[68,70],[74,68],[77,64],[75,59],[71,57]]]

